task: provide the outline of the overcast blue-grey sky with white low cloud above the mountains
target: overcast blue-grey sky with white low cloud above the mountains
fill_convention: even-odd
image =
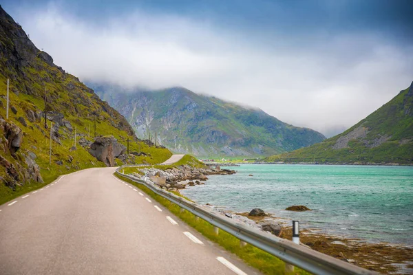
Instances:
[[[413,80],[410,0],[83,2],[1,5],[83,81],[182,86],[327,136]]]

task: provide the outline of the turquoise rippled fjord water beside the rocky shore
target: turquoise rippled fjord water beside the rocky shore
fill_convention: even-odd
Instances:
[[[301,226],[370,242],[413,245],[413,167],[242,164],[182,190],[198,203],[262,208]],[[248,175],[253,175],[253,177]],[[313,211],[291,212],[304,205]]]

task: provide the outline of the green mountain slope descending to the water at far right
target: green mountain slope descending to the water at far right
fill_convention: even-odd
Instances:
[[[413,83],[344,133],[265,161],[413,164]]]

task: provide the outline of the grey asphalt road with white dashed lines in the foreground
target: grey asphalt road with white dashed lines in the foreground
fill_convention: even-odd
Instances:
[[[257,274],[115,169],[65,175],[1,205],[0,274]]]

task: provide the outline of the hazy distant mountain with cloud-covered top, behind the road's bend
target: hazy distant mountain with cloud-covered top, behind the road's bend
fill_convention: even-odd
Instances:
[[[158,141],[198,157],[262,156],[292,151],[324,140],[324,135],[184,88],[125,92],[96,85],[96,94],[122,113],[138,137],[158,133]]]

